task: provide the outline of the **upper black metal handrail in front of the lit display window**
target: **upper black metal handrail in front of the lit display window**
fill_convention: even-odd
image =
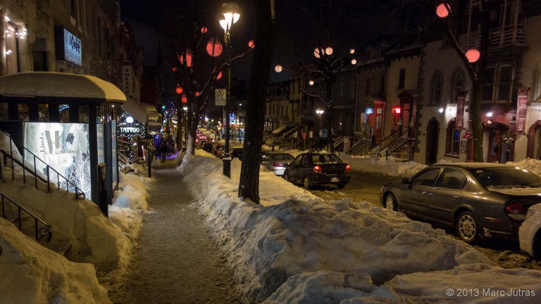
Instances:
[[[11,179],[12,180],[15,179],[15,165],[14,165],[14,163],[16,163],[17,165],[20,165],[22,167],[23,181],[25,182],[25,184],[26,184],[26,172],[29,172],[30,174],[34,175],[34,182],[35,182],[36,189],[38,189],[37,188],[37,179],[39,179],[42,182],[47,184],[47,191],[50,192],[51,191],[51,178],[50,178],[49,172],[52,170],[54,173],[56,173],[56,185],[58,186],[58,190],[61,189],[61,178],[62,178],[63,179],[62,182],[66,182],[66,192],[70,192],[70,189],[73,189],[73,192],[75,192],[75,199],[78,199],[78,200],[82,201],[82,200],[84,200],[86,198],[85,191],[82,191],[81,189],[79,189],[79,187],[77,187],[77,185],[75,185],[73,182],[71,182],[67,177],[64,177],[63,175],[61,175],[60,172],[54,170],[53,167],[49,166],[49,164],[45,163],[44,160],[37,157],[34,153],[32,153],[27,148],[25,148],[25,146],[20,144],[18,141],[15,141],[14,139],[12,139],[9,134],[7,134],[6,132],[4,132],[4,134],[6,134],[6,136],[9,137],[9,139],[10,139],[9,140],[9,149],[10,149],[10,151],[7,152],[7,151],[4,151],[4,150],[0,149],[0,152],[4,155],[4,165],[7,165],[6,158],[11,159]],[[30,155],[33,156],[33,159],[34,159],[34,171],[33,172],[32,172],[32,170],[27,169],[24,156],[22,156],[22,155],[20,156],[22,161],[15,159],[14,155],[16,155],[18,153],[18,150],[13,151],[13,142],[15,142],[15,144],[19,144],[19,146],[23,147],[25,152],[30,153]],[[46,177],[38,176],[37,167],[36,167],[37,160],[39,160],[42,164],[45,165],[45,167],[46,167]],[[2,171],[3,170],[4,169],[1,167],[1,164],[0,164],[0,179],[4,178],[2,176]]]

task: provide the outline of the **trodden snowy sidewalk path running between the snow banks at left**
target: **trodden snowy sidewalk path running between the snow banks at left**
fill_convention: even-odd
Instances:
[[[149,212],[125,282],[108,291],[109,298],[113,303],[234,303],[231,274],[175,162],[161,163],[153,178]]]

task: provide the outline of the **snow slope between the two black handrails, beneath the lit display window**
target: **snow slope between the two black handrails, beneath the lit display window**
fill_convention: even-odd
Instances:
[[[69,260],[92,263],[97,270],[111,270],[122,262],[130,246],[128,238],[101,213],[96,203],[79,201],[75,194],[62,190],[36,190],[25,184],[21,175],[4,181],[4,195],[52,226],[51,241],[71,246],[66,254]],[[46,184],[38,183],[38,189],[46,190]]]

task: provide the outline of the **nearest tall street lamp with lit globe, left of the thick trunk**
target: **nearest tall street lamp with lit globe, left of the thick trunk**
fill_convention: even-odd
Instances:
[[[228,89],[225,92],[225,147],[223,156],[223,175],[231,178],[231,157],[229,153],[229,113],[231,106],[231,29],[232,25],[240,18],[240,8],[235,2],[222,5],[223,20],[220,26],[223,28],[225,40],[225,61],[228,65]]]

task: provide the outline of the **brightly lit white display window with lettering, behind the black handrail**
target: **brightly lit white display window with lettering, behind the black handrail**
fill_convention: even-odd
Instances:
[[[25,122],[24,144],[30,152],[49,167],[66,177],[92,199],[90,191],[90,151],[88,124]],[[34,163],[33,156],[26,153],[25,161]],[[46,165],[37,161],[37,172],[46,177]],[[49,171],[51,182],[57,182],[56,173]],[[60,188],[66,189],[66,182],[60,179]]]

